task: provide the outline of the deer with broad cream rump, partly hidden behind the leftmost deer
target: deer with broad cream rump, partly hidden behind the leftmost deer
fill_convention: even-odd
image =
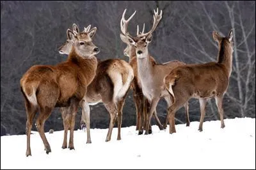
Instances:
[[[72,30],[74,33],[79,33],[79,27],[73,24]],[[90,31],[90,26],[84,27],[84,33]],[[68,38],[68,37],[67,37]],[[60,54],[69,54],[72,47],[72,41],[67,39],[67,42],[63,43],[59,48]],[[96,75],[91,84],[87,87],[87,93],[84,96],[85,104],[81,104],[83,108],[81,117],[81,126],[86,124],[87,130],[87,142],[92,143],[90,138],[90,107],[89,105],[95,105],[102,102],[110,115],[109,130],[106,137],[106,142],[111,140],[111,133],[115,125],[117,118],[118,123],[118,136],[117,140],[121,140],[121,126],[122,126],[122,110],[124,107],[125,97],[131,82],[133,80],[134,73],[132,67],[126,61],[122,59],[106,59],[104,61],[98,61]],[[67,111],[61,111],[63,120],[67,118]],[[65,137],[63,141],[63,148],[67,146],[67,129],[68,125],[63,121],[65,127]]]

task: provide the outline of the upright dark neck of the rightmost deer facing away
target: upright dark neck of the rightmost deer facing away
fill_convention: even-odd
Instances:
[[[232,72],[232,50],[228,49],[228,45],[225,45],[225,42],[222,41],[219,47],[218,53],[218,63],[224,65],[228,70],[228,75],[230,76]]]

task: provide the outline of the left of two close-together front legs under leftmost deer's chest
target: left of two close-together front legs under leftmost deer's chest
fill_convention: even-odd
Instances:
[[[70,111],[69,107],[62,107],[60,108],[61,111],[61,116],[63,120],[63,127],[64,127],[64,139],[63,139],[63,144],[62,144],[62,149],[67,148],[67,134],[68,134],[68,128],[69,126],[69,116],[70,116]]]

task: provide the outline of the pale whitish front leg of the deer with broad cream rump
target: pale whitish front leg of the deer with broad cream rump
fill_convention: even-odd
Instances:
[[[91,134],[90,134],[90,106],[85,100],[82,100],[80,102],[80,105],[82,107],[81,121],[85,122],[85,125],[86,125],[86,132],[87,132],[87,141],[86,141],[86,143],[92,143]]]

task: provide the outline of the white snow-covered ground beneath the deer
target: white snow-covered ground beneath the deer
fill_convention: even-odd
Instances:
[[[31,157],[26,157],[26,135],[1,137],[1,169],[255,169],[255,118],[205,121],[190,127],[176,125],[175,134],[154,125],[152,135],[122,128],[122,140],[105,142],[108,129],[74,132],[76,150],[61,149],[63,131],[45,133],[52,152],[47,155],[37,132],[31,135]],[[24,127],[25,128],[25,127]],[[69,137],[68,137],[69,138]]]

